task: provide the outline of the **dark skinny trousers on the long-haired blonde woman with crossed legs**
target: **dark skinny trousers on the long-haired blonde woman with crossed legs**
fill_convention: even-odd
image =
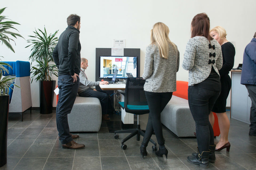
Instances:
[[[147,122],[146,133],[142,144],[147,146],[149,139],[151,138],[153,132],[155,132],[158,144],[164,145],[165,139],[163,138],[161,112],[171,100],[173,92],[155,93],[145,91],[145,95],[149,105],[149,120]]]

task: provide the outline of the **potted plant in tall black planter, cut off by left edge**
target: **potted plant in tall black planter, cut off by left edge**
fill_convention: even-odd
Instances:
[[[16,29],[16,28],[14,28],[13,24],[19,24],[19,23],[14,22],[14,21],[9,21],[9,19],[7,19],[6,16],[1,16],[1,14],[5,10],[5,8],[0,9],[0,43],[5,44],[10,50],[12,50],[15,53],[12,45],[10,44],[10,40],[11,41],[14,41],[14,40],[9,38],[9,36],[11,35],[16,39],[17,39],[17,36],[18,37],[22,37],[22,36],[19,35],[18,33],[8,31],[8,29]],[[6,19],[7,19],[7,21],[3,21]],[[13,82],[13,79],[15,79],[15,77],[11,78],[10,77],[11,75],[3,77],[3,73],[5,73],[5,72],[9,73],[9,71],[4,67],[4,65],[11,67],[7,63],[0,62],[0,106],[1,106],[1,111],[0,111],[0,132],[1,132],[0,133],[0,167],[5,165],[7,162],[7,123],[8,123],[8,113],[9,113],[9,88],[12,89],[11,84],[13,84],[16,87],[19,87],[16,84],[14,84],[14,82]],[[12,67],[11,67],[11,69],[12,69]]]

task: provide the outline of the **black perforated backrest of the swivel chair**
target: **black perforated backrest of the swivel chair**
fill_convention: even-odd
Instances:
[[[125,91],[125,108],[127,105],[148,105],[144,91],[145,80],[143,78],[127,78]]]

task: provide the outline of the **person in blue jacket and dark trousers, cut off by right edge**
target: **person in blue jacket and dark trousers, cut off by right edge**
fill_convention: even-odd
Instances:
[[[256,136],[256,32],[243,53],[241,84],[244,84],[251,98],[249,135]]]

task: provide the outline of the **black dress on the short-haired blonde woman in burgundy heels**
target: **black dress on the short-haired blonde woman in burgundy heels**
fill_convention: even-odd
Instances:
[[[229,71],[234,66],[235,58],[235,47],[232,43],[227,42],[221,45],[223,65],[219,70],[220,80],[221,80],[221,94],[216,100],[212,111],[215,113],[226,112],[227,97],[229,96],[229,91],[231,88],[231,78],[229,77]]]

